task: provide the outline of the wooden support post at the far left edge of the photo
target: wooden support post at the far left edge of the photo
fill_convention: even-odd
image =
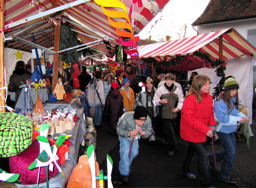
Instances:
[[[0,0],[1,13],[0,13],[0,28],[4,28],[4,0]],[[4,36],[0,34],[0,88],[5,85],[4,78]],[[0,93],[5,97],[5,89],[0,90]],[[5,100],[0,96],[0,106],[5,106]],[[0,112],[5,112],[5,107],[0,107]]]

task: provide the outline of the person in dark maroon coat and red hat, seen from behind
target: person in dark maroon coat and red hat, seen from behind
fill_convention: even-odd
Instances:
[[[119,90],[110,90],[106,97],[105,115],[108,117],[108,126],[116,129],[119,118],[124,113],[124,99]]]

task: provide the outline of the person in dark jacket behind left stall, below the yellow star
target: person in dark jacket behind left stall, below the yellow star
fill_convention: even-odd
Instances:
[[[20,88],[20,86],[22,85],[21,82],[26,84],[26,80],[30,79],[31,76],[32,73],[25,70],[25,63],[23,61],[18,61],[16,63],[14,71],[12,72],[12,75],[10,76],[10,81],[8,84],[8,91],[15,92],[16,101],[18,100],[20,92],[22,90],[22,88]]]

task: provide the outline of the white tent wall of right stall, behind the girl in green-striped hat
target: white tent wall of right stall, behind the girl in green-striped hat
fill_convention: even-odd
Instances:
[[[228,60],[226,60],[228,61]],[[256,57],[242,57],[232,60],[226,64],[225,74],[226,77],[234,76],[239,83],[240,88],[238,89],[238,98],[244,102],[247,107],[248,118],[250,119],[249,124],[252,124],[252,96],[253,96],[253,72],[252,68],[256,63]],[[210,79],[214,80],[216,77],[215,68],[200,68],[194,70],[198,74],[204,74]],[[188,77],[190,78],[193,71],[188,71]],[[211,86],[210,91],[214,92],[214,87]]]

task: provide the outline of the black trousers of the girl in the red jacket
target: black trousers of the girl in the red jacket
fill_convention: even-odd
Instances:
[[[180,172],[182,174],[190,173],[190,166],[195,156],[197,156],[197,171],[201,182],[200,187],[210,187],[212,185],[212,176],[207,166],[208,157],[203,143],[188,142],[188,151],[182,163]]]

